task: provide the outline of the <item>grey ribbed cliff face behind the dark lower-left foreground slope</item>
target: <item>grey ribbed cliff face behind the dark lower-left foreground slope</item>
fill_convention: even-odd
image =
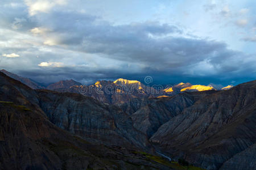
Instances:
[[[80,94],[39,90],[40,108],[61,129],[110,145],[147,147],[147,137],[133,128],[128,114]]]

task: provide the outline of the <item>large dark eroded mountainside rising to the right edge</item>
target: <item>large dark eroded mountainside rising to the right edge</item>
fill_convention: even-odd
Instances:
[[[255,97],[256,81],[205,96],[163,124],[150,141],[174,157],[220,168],[256,142]]]

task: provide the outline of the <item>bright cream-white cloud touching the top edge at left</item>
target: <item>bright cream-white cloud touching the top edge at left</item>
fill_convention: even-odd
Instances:
[[[52,7],[56,5],[65,5],[67,3],[66,0],[24,0],[26,5],[28,6],[28,11],[30,15],[35,15],[38,12],[49,12]]]

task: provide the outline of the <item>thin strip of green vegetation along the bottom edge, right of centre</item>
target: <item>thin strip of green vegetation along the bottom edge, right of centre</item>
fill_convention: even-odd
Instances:
[[[184,159],[181,159],[181,163],[177,163],[177,162],[169,162],[168,160],[160,157],[160,156],[155,156],[155,155],[151,155],[151,154],[147,154],[146,152],[137,152],[135,151],[134,154],[142,154],[144,156],[146,156],[147,159],[152,160],[154,162],[166,165],[167,167],[171,167],[177,170],[203,170],[202,168],[199,167],[194,167],[193,165],[188,165],[188,162],[186,162]],[[186,164],[186,165],[184,165]]]

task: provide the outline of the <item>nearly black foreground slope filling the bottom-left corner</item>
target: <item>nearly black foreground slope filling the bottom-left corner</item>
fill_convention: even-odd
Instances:
[[[140,152],[90,143],[40,112],[0,102],[0,169],[172,169]]]

